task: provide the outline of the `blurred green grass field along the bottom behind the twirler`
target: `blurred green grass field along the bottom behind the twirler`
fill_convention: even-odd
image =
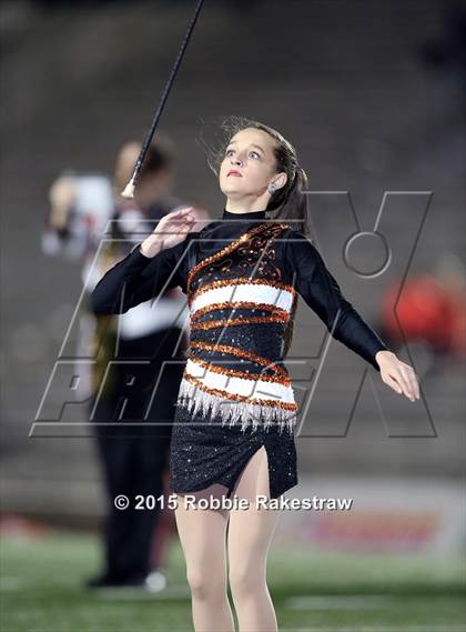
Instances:
[[[176,539],[169,586],[90,593],[100,565],[95,536],[57,532],[3,539],[2,632],[192,631],[184,561]],[[281,632],[464,632],[464,559],[336,555],[303,551],[269,556],[269,586]]]

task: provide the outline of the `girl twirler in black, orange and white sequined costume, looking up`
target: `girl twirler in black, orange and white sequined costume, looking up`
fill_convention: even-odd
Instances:
[[[273,632],[266,555],[280,510],[256,501],[277,499],[298,482],[297,411],[284,365],[297,297],[385,384],[411,401],[419,389],[412,367],[343,297],[308,238],[307,180],[293,146],[244,120],[226,140],[215,165],[225,195],[221,219],[193,231],[190,208],[165,215],[107,272],[92,307],[124,313],[168,288],[186,294],[190,348],[170,465],[194,629],[234,630],[229,580],[240,631]],[[249,503],[193,509],[186,494]]]

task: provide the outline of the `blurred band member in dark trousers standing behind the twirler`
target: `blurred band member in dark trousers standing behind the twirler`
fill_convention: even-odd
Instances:
[[[68,172],[50,188],[42,249],[50,255],[82,261],[87,299],[141,234],[153,230],[166,213],[186,205],[170,192],[174,150],[163,137],[148,150],[134,200],[120,197],[140,149],[135,141],[123,144],[113,181],[104,174]],[[207,218],[201,208],[194,212],[200,220]],[[148,301],[126,314],[95,315],[88,310],[81,314],[78,357],[93,357],[95,364],[80,381],[79,395],[89,397],[108,502],[105,568],[87,582],[89,588],[136,585],[156,591],[165,585],[166,538],[159,530],[160,503],[143,510],[134,509],[134,503],[138,494],[156,499],[164,492],[170,422],[185,361],[184,302],[176,288],[165,292],[156,305]],[[130,499],[130,509],[114,506],[120,494]]]

